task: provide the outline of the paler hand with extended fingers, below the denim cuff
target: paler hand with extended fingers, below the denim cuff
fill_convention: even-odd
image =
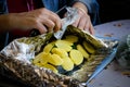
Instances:
[[[88,10],[86,5],[83,5],[81,2],[76,2],[73,8],[78,9],[78,18],[73,24],[74,26],[78,27],[79,29],[87,30],[90,34],[94,34],[94,28],[91,23],[91,18],[88,14]]]

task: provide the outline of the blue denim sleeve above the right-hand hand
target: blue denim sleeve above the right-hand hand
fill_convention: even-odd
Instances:
[[[99,18],[99,3],[96,0],[67,0],[68,5],[73,5],[75,2],[82,2],[87,9],[88,13],[90,14],[91,21],[93,25],[96,25],[100,23]]]

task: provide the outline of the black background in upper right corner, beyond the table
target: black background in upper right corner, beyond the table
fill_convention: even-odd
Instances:
[[[130,20],[130,0],[98,0],[101,23]]]

